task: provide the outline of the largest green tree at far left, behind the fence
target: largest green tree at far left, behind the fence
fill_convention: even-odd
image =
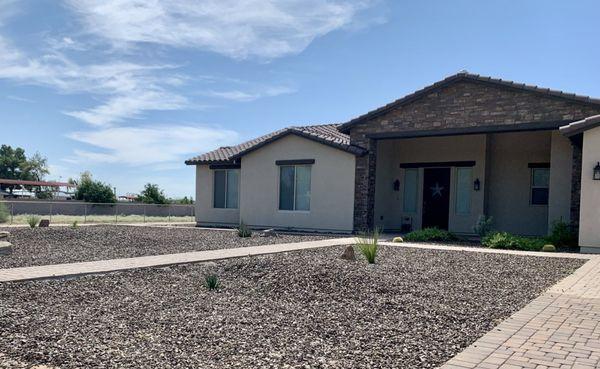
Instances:
[[[0,146],[0,178],[41,181],[48,173],[48,161],[40,153],[28,159],[20,147]],[[15,185],[1,185],[1,188],[12,193]]]

